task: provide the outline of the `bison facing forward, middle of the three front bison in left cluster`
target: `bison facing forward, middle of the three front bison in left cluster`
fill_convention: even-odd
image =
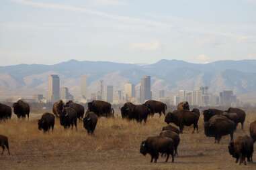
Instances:
[[[75,125],[75,129],[77,129],[77,112],[70,107],[63,108],[60,113],[60,125],[64,126],[65,129],[70,126],[72,126],[73,129],[73,126]]]

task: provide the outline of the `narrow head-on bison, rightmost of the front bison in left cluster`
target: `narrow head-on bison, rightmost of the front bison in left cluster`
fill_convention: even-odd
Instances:
[[[87,130],[88,134],[93,134],[97,125],[98,116],[94,112],[88,112],[83,118],[83,127]]]

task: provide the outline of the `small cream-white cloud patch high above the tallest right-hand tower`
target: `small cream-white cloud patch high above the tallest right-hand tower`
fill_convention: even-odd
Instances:
[[[161,43],[159,41],[153,41],[148,43],[132,43],[130,44],[132,50],[142,50],[142,51],[156,51],[161,48]]]

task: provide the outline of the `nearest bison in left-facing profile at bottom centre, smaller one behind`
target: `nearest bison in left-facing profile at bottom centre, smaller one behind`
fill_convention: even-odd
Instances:
[[[155,163],[157,163],[157,159],[159,158],[159,153],[167,154],[167,158],[165,162],[168,161],[169,155],[172,157],[172,162],[174,161],[174,144],[173,139],[167,137],[148,137],[146,141],[142,141],[140,145],[140,153],[142,155],[146,155],[147,153],[151,155],[151,163],[153,159],[155,159]]]

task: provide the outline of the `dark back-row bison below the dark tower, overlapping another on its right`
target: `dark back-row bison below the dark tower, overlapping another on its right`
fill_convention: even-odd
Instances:
[[[123,118],[128,118],[128,120],[136,120],[137,122],[144,121],[144,123],[146,123],[148,114],[151,113],[151,110],[142,104],[135,105],[132,103],[126,103],[124,106],[122,106],[121,112]]]

